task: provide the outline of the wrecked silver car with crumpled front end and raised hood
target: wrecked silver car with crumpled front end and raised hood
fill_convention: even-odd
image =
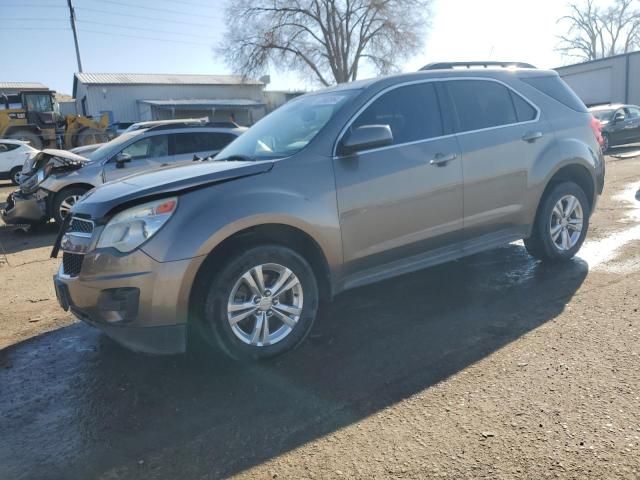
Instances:
[[[150,122],[151,127],[124,133],[87,157],[64,150],[43,150],[25,162],[20,189],[7,199],[5,223],[62,222],[71,207],[93,187],[126,176],[190,162],[218,153],[245,127],[200,120]],[[26,171],[25,171],[26,170]]]

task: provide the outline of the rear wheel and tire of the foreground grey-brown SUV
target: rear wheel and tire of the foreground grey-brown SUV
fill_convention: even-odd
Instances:
[[[577,204],[567,216],[573,200]],[[573,182],[552,186],[540,202],[531,237],[524,241],[527,251],[543,261],[573,258],[587,236],[590,215],[589,201],[582,188]]]

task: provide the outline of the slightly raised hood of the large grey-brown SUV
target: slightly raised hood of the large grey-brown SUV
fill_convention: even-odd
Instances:
[[[73,213],[100,221],[113,211],[146,200],[268,172],[273,163],[198,162],[143,172],[94,188],[74,206]]]

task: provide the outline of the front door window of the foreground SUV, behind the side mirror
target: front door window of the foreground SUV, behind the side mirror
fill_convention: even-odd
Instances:
[[[442,135],[435,87],[418,83],[394,88],[369,105],[351,128],[364,125],[389,125],[395,145]]]

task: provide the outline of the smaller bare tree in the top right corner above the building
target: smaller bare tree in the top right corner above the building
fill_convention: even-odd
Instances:
[[[558,50],[581,60],[595,60],[640,48],[639,0],[615,0],[608,8],[595,0],[569,4],[568,25]]]

